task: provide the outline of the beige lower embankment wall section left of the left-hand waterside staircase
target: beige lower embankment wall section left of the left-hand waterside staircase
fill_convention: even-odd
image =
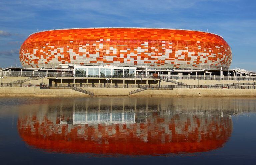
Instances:
[[[40,87],[0,87],[0,96],[90,96],[72,89],[40,89]]]

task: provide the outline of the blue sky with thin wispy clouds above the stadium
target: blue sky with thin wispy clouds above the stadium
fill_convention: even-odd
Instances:
[[[29,34],[79,27],[208,30],[230,45],[230,68],[256,71],[255,0],[1,0],[0,67],[20,66]]]

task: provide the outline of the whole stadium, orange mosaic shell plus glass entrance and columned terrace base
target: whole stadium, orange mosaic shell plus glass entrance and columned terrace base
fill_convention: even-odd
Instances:
[[[4,82],[29,81],[30,86],[30,80],[38,83],[41,78],[41,83],[49,86],[128,88],[183,83],[182,87],[189,87],[188,84],[219,84],[219,80],[232,81],[227,83],[236,80],[239,84],[240,80],[254,80],[256,76],[243,69],[229,69],[231,48],[220,35],[184,29],[116,27],[39,31],[24,41],[19,57],[22,66],[2,69],[1,77],[21,76],[24,80],[4,79]]]

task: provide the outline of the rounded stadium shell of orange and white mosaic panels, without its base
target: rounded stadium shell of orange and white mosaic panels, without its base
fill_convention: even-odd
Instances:
[[[228,69],[232,53],[219,35],[180,29],[77,28],[31,34],[21,46],[24,67],[62,64],[169,69]]]

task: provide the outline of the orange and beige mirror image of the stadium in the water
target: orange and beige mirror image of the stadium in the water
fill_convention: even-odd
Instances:
[[[205,152],[225,145],[233,128],[230,111],[200,99],[42,98],[35,104],[20,111],[18,131],[29,146],[47,152]]]

